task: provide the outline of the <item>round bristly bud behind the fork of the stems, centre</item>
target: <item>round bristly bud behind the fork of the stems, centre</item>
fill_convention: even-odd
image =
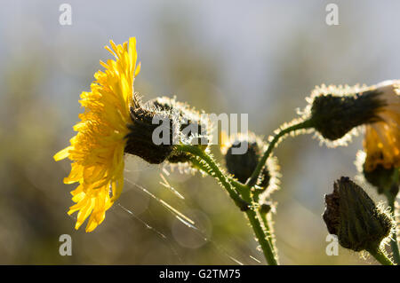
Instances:
[[[239,182],[245,183],[252,176],[252,171],[257,167],[268,145],[252,132],[247,135],[242,133],[228,137],[221,133],[220,151],[225,158],[228,173]],[[243,154],[235,154],[233,150],[247,148]],[[271,193],[279,188],[279,165],[275,156],[270,156],[266,165],[261,170],[257,186],[260,187],[260,202],[267,200]]]

